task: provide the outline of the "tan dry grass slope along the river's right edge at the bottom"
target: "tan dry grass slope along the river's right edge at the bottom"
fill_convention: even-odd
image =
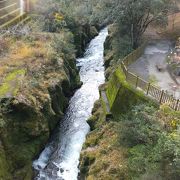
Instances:
[[[119,125],[116,122],[105,124],[101,131],[93,131],[87,137],[82,157],[94,159],[90,165],[87,180],[119,180],[127,177],[127,150],[118,143]]]

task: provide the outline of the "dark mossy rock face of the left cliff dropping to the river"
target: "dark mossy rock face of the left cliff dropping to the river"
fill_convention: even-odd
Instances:
[[[62,67],[59,68],[61,73]],[[0,120],[0,160],[4,167],[0,168],[0,179],[31,177],[32,160],[44,148],[63,117],[71,93],[80,85],[77,70],[73,73],[75,69],[64,68],[66,76],[59,79],[57,70],[56,77],[47,79],[46,87],[41,86],[42,91],[20,92],[16,97],[2,100],[6,105]]]

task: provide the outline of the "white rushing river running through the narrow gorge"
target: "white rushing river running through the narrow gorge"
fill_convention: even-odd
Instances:
[[[70,100],[58,138],[52,140],[33,163],[38,171],[37,180],[77,180],[80,152],[89,132],[86,120],[99,98],[98,87],[105,81],[103,45],[107,35],[105,28],[91,41],[84,57],[77,59],[83,85]]]

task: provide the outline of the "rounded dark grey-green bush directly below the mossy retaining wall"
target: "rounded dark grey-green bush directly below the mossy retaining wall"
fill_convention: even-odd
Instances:
[[[143,109],[143,111],[142,111]],[[122,136],[129,146],[138,144],[153,144],[160,134],[160,125],[153,117],[153,106],[136,105],[132,111],[123,116],[125,126],[122,126]],[[128,128],[128,131],[127,131]]]

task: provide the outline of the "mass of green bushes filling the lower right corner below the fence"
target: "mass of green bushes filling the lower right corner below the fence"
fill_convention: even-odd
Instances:
[[[120,142],[129,149],[128,167],[132,178],[179,179],[179,125],[167,129],[164,123],[176,119],[176,113],[172,110],[166,113],[157,113],[155,107],[141,104],[119,118]],[[168,122],[162,123],[165,116]]]

